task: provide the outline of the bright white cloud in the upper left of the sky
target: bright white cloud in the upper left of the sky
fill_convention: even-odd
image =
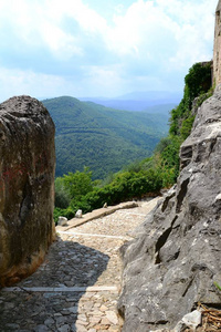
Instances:
[[[82,54],[78,31],[62,28],[66,18],[75,20],[88,34],[104,31],[105,20],[81,0],[12,0],[4,2],[0,12],[0,27],[10,22],[14,37],[28,46],[45,44],[56,56],[64,59]],[[69,56],[66,56],[69,54]]]

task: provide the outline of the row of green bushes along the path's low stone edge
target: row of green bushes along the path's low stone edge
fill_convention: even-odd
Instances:
[[[141,168],[143,167],[140,165],[139,172],[127,170],[118,173],[113,177],[113,180],[109,184],[106,184],[101,188],[93,187],[92,179],[90,184],[85,181],[85,188],[88,187],[91,189],[84,190],[84,194],[83,191],[78,194],[77,188],[77,195],[72,196],[70,206],[66,209],[56,207],[54,211],[55,221],[57,220],[60,214],[62,214],[62,216],[64,217],[72,218],[74,217],[77,209],[82,209],[85,214],[93,209],[101,208],[105,203],[107,203],[108,205],[115,205],[133,198],[140,198],[148,193],[150,193],[151,195],[157,195],[162,186],[160,173],[158,172],[158,169],[154,168]],[[91,175],[91,172],[88,172],[88,169],[84,173],[76,172],[75,174],[71,174],[71,179],[85,179],[85,174]],[[65,180],[66,177],[67,176],[65,175],[63,177],[63,180]],[[73,186],[73,181],[67,181],[66,184],[69,184],[70,188]],[[76,187],[74,186],[74,189]],[[72,191],[72,194],[74,193],[75,191]]]

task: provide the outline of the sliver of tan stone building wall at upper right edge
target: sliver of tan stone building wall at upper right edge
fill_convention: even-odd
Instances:
[[[213,84],[221,84],[221,0],[215,10],[214,46],[213,46]]]

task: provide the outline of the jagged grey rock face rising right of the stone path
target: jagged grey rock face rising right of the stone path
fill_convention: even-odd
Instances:
[[[177,185],[123,248],[123,331],[173,328],[197,302],[220,305],[221,91],[198,110]]]

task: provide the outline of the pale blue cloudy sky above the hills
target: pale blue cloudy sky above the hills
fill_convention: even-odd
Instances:
[[[0,0],[0,102],[182,91],[218,0]]]

